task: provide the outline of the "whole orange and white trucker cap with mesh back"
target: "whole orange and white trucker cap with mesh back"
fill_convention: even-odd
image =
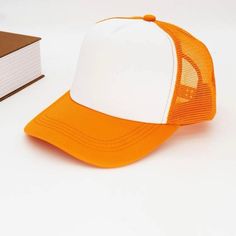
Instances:
[[[202,42],[153,15],[113,17],[85,35],[70,91],[25,132],[83,162],[118,167],[215,112],[213,63]]]

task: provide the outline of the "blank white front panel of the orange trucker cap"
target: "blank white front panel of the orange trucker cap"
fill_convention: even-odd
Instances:
[[[176,80],[173,45],[153,22],[96,24],[80,50],[72,99],[111,116],[165,124]]]

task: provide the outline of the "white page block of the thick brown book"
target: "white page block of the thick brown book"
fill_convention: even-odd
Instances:
[[[0,58],[0,98],[38,78],[41,73],[40,42]]]

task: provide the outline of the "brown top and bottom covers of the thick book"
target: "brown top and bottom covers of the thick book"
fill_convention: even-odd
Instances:
[[[11,53],[14,53],[17,50],[23,49],[26,46],[29,46],[39,40],[41,40],[40,37],[0,31],[0,60],[3,59],[5,56]],[[21,85],[20,87],[16,88],[15,90],[9,92],[8,94],[4,96],[0,96],[0,101],[22,90],[23,88],[27,87],[28,85],[36,82],[37,80],[43,77],[44,75],[40,75],[40,76],[37,76],[37,78],[32,78],[32,80],[30,80],[26,84]],[[0,77],[0,82],[1,82],[1,77]],[[1,83],[0,83],[0,89],[1,89]]]

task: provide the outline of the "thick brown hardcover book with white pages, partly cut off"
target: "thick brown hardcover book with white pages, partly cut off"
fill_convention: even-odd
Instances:
[[[44,77],[40,40],[0,31],[0,101]]]

